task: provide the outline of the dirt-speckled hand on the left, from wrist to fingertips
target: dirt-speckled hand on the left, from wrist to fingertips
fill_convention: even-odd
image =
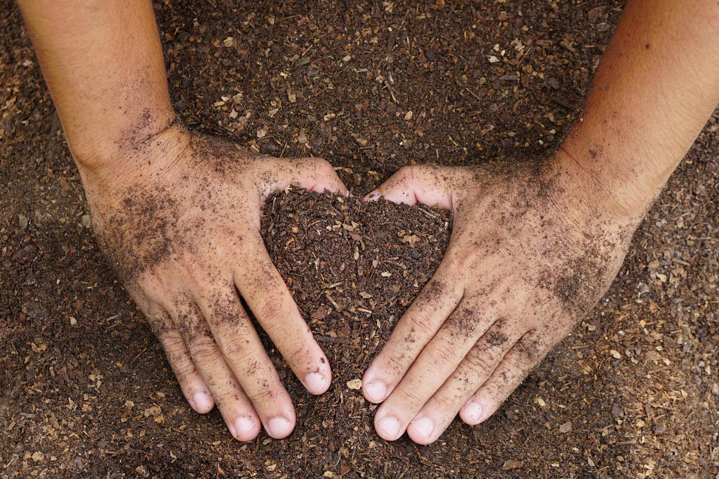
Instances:
[[[93,230],[198,412],[214,404],[237,440],[260,424],[283,438],[295,411],[240,297],[313,394],[329,388],[324,352],[260,236],[267,195],[296,183],[347,195],[324,159],[262,157],[170,126],[83,170]]]

